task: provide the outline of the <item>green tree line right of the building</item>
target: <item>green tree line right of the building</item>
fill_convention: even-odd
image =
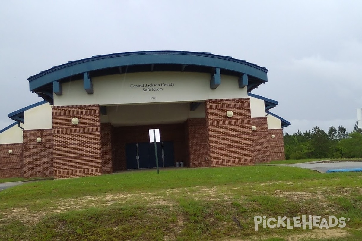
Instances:
[[[343,126],[330,126],[328,132],[315,126],[312,131],[284,134],[285,158],[362,158],[362,129],[357,122],[354,130],[347,132]]]

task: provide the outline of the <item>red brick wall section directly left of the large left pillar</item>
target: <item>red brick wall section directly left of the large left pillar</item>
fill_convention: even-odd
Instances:
[[[37,138],[42,139],[37,142]],[[51,129],[23,130],[24,177],[53,176],[53,140]]]

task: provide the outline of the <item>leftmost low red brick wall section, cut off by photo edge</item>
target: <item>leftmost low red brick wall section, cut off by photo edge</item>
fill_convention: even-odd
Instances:
[[[0,145],[0,178],[23,176],[22,151],[22,143]]]

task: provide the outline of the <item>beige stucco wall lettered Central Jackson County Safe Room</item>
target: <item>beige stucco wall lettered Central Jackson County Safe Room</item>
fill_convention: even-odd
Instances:
[[[62,84],[63,95],[54,95],[55,106],[78,104],[137,104],[196,102],[207,99],[247,98],[235,76],[221,76],[221,84],[210,89],[210,74],[190,72],[145,72],[92,78],[93,94],[87,94],[83,80]],[[146,85],[160,85],[147,87]],[[171,86],[162,86],[162,85]],[[156,90],[162,89],[162,90]]]

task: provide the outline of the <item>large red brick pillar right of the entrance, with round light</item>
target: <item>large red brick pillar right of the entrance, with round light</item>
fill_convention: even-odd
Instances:
[[[205,107],[210,166],[254,164],[249,98],[206,100]]]

